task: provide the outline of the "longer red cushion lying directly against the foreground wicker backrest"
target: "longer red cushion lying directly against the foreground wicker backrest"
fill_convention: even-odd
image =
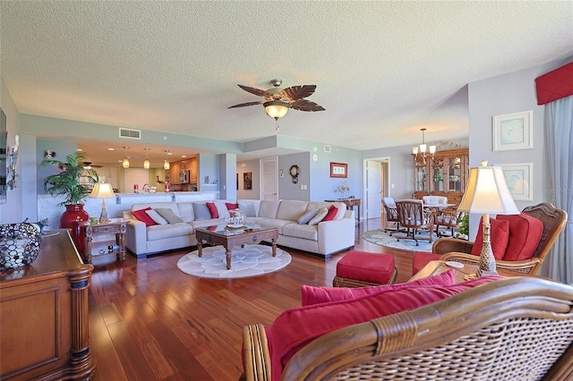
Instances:
[[[279,380],[288,360],[323,334],[373,318],[416,309],[501,278],[499,275],[488,275],[461,284],[417,286],[364,295],[347,301],[330,301],[287,309],[267,329],[272,379]]]

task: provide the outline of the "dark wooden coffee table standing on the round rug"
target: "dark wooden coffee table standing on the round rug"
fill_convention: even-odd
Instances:
[[[222,245],[227,256],[227,270],[231,268],[231,250],[240,245],[255,244],[261,241],[270,241],[272,244],[272,256],[277,257],[277,228],[264,228],[257,224],[245,224],[244,227],[235,229],[227,225],[198,227],[195,229],[197,239],[197,252],[202,256],[203,241],[210,245]]]

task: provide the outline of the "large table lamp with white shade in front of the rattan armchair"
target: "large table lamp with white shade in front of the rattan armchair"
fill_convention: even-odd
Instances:
[[[508,184],[505,182],[500,166],[487,166],[487,161],[483,161],[482,166],[470,168],[466,193],[458,210],[483,213],[483,248],[480,252],[477,275],[497,274],[490,241],[490,213],[495,215],[519,214],[519,209],[509,193]]]

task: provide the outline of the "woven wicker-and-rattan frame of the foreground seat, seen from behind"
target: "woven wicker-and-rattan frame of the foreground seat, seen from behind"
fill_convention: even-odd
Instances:
[[[571,380],[572,343],[573,286],[518,276],[324,334],[282,379]],[[270,380],[263,326],[244,327],[243,348],[241,379]]]

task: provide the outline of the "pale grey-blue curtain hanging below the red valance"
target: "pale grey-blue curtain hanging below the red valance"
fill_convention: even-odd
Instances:
[[[568,214],[565,231],[549,255],[549,275],[556,281],[573,284],[573,96],[548,103],[545,118],[552,203]]]

